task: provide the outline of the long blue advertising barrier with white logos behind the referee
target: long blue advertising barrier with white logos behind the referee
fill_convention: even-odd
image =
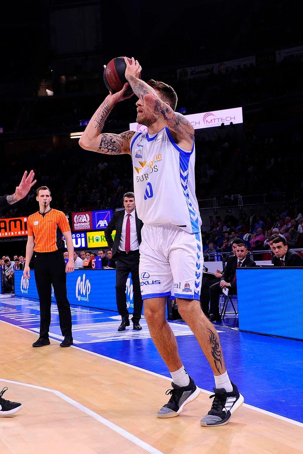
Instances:
[[[67,296],[70,304],[117,311],[116,270],[75,270],[66,275]],[[34,270],[30,279],[25,279],[22,271],[15,271],[15,295],[23,298],[39,299]],[[52,286],[52,301],[56,301]],[[126,284],[126,301],[129,313],[133,313],[132,278]]]

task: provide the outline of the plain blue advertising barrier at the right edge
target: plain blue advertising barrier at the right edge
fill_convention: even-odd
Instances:
[[[303,340],[303,268],[238,268],[239,330]]]

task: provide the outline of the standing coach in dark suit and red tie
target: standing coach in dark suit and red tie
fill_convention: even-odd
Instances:
[[[129,273],[132,275],[132,289],[134,296],[134,311],[132,316],[133,329],[142,330],[139,321],[142,314],[142,296],[139,276],[139,245],[141,243],[141,229],[143,222],[137,217],[135,196],[127,192],[123,196],[125,210],[116,211],[105,229],[105,238],[108,247],[112,249],[112,258],[117,260],[116,267],[116,301],[117,309],[122,317],[118,331],[124,331],[129,326],[129,313],[126,305],[126,281]],[[112,231],[116,230],[115,240],[112,240]]]

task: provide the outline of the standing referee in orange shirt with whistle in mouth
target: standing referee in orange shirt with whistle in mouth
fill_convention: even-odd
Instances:
[[[66,273],[74,270],[73,241],[67,219],[62,211],[49,206],[52,200],[46,186],[37,189],[39,211],[27,219],[28,240],[23,275],[29,279],[29,262],[34,252],[35,281],[40,302],[40,336],[33,347],[49,345],[51,286],[56,296],[59,322],[64,341],[60,347],[73,345],[72,315],[66,291]],[[64,235],[68,249],[68,263],[65,266],[63,252]]]

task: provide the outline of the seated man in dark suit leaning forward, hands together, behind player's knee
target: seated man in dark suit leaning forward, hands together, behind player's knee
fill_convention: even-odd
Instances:
[[[236,269],[237,267],[256,266],[256,263],[247,257],[247,246],[244,243],[237,244],[236,255],[227,259],[224,273],[220,282],[210,287],[210,321],[222,321],[219,312],[219,297],[224,288],[228,288],[231,295],[237,293]]]

